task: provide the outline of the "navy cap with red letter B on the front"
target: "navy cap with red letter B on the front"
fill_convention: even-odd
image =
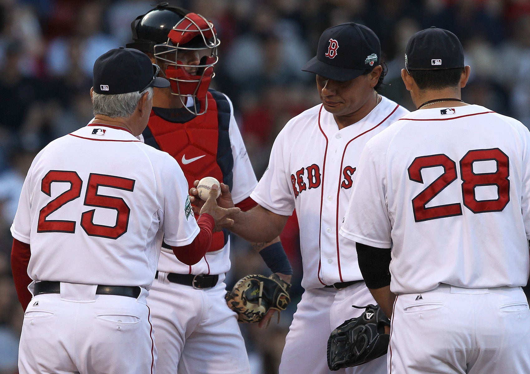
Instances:
[[[302,71],[346,82],[369,73],[377,65],[381,65],[377,35],[364,25],[347,22],[324,30],[316,56]]]

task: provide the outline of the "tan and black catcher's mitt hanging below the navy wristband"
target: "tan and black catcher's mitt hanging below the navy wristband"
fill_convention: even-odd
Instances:
[[[289,288],[291,285],[272,274],[269,278],[264,275],[247,275],[240,279],[232,289],[226,292],[226,304],[237,313],[238,322],[260,322],[269,309],[285,310],[289,302]]]

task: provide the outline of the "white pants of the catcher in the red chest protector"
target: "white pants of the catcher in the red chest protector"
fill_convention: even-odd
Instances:
[[[224,275],[215,287],[198,290],[164,274],[158,272],[147,298],[157,374],[250,374],[236,314],[224,298]]]

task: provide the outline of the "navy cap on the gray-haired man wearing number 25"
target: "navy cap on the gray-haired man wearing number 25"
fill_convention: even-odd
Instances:
[[[94,63],[94,92],[117,95],[141,92],[147,87],[165,88],[170,83],[158,77],[160,68],[137,49],[116,48],[105,52]]]

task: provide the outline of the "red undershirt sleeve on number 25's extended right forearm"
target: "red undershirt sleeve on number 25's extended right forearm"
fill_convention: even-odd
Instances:
[[[206,254],[211,244],[211,234],[215,226],[214,217],[207,213],[201,214],[197,220],[199,234],[188,245],[181,247],[171,246],[173,253],[179,261],[186,265],[195,265]]]

